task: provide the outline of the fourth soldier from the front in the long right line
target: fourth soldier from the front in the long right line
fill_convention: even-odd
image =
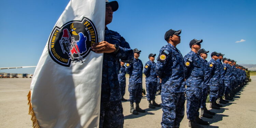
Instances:
[[[219,79],[220,79],[220,68],[216,60],[219,58],[220,53],[213,52],[211,53],[212,59],[208,62],[208,65],[210,67],[210,108],[212,109],[220,109],[218,104],[216,103],[216,100],[218,98],[219,94]]]

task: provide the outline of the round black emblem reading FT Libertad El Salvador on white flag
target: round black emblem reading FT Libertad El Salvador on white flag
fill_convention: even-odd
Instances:
[[[98,42],[93,22],[84,17],[62,27],[55,27],[48,40],[48,52],[59,65],[69,67],[71,62],[82,62],[91,51],[91,44]]]

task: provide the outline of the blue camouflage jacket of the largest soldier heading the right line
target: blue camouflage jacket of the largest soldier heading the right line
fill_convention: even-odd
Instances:
[[[184,60],[181,52],[171,44],[160,49],[156,63],[156,74],[162,79],[162,92],[185,91]]]

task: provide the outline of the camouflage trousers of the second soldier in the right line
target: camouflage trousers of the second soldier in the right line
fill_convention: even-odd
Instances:
[[[202,102],[202,88],[188,87],[186,88],[187,98],[187,118],[195,120],[199,116],[199,109]]]

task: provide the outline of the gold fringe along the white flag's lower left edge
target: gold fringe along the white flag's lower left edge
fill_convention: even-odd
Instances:
[[[35,117],[35,113],[31,104],[31,90],[28,93],[28,105],[29,105],[29,110],[28,110],[28,114],[31,115],[31,120],[33,122],[33,128],[40,128],[39,124],[37,122],[37,117]]]

